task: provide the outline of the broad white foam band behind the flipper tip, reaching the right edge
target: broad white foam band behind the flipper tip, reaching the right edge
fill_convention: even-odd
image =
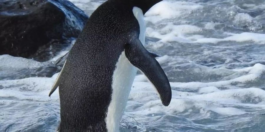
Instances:
[[[150,113],[176,114],[185,112],[187,114],[192,111],[193,107],[196,107],[201,109],[202,113],[207,113],[207,111],[211,110],[223,115],[240,115],[245,114],[246,111],[233,107],[224,107],[221,104],[251,106],[257,109],[265,108],[265,105],[262,104],[262,101],[265,100],[265,91],[262,89],[246,88],[221,91],[216,87],[207,88],[212,90],[206,90],[206,88],[202,88],[206,91],[203,92],[204,94],[172,90],[170,105],[165,107],[155,95],[156,93],[152,89],[151,84],[148,82],[134,82],[129,100],[136,101],[136,104],[131,102],[130,108],[139,103],[143,105],[131,110],[129,113],[147,115]],[[251,102],[254,104],[250,104]]]

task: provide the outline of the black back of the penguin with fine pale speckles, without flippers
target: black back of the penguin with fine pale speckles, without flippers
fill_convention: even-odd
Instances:
[[[88,19],[61,73],[59,131],[107,131],[105,119],[116,62],[125,44],[139,38],[132,8],[109,0]]]

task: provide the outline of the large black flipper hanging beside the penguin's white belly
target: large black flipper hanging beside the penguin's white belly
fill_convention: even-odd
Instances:
[[[168,78],[154,56],[144,48],[139,39],[132,40],[125,45],[125,56],[152,82],[162,104],[168,106],[172,96]]]

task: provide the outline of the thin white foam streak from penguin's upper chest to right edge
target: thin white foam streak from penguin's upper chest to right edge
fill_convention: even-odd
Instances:
[[[178,26],[181,27],[181,26]],[[189,27],[189,28],[188,28]],[[172,26],[172,29],[174,26]],[[183,30],[183,31],[181,31]],[[201,29],[196,26],[188,26],[185,25],[179,30],[173,30],[167,34],[160,34],[158,31],[148,27],[146,28],[147,36],[160,38],[160,42],[184,42],[184,43],[218,43],[222,41],[236,41],[236,42],[248,42],[254,41],[256,43],[264,44],[265,43],[265,34],[262,33],[226,33],[230,35],[226,38],[204,38],[203,35],[189,35],[185,36],[185,33],[196,33],[199,32]]]

